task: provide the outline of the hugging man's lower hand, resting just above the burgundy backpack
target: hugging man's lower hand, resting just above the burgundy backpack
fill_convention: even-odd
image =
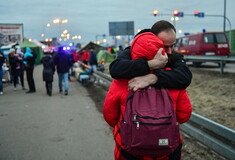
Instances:
[[[128,81],[128,89],[136,91],[145,88],[157,82],[157,76],[154,74],[147,74],[145,76],[135,77]]]

